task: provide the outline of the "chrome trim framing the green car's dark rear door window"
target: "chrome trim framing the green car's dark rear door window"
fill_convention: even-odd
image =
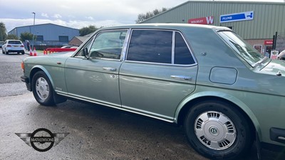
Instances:
[[[192,51],[192,48],[190,48],[190,45],[188,43],[188,41],[186,40],[185,36],[180,32],[180,31],[177,31],[177,30],[172,30],[172,29],[156,29],[156,28],[131,28],[130,29],[130,35],[129,35],[129,40],[128,40],[128,46],[126,48],[126,53],[125,53],[125,57],[123,58],[123,60],[125,62],[130,62],[130,63],[145,63],[145,64],[154,64],[154,65],[170,65],[170,66],[185,66],[185,67],[190,67],[190,66],[195,66],[197,65],[197,60],[193,54],[193,51]],[[143,30],[143,31],[147,31],[147,30],[151,30],[151,31],[170,31],[172,32],[172,63],[151,63],[151,62],[145,62],[145,61],[135,61],[135,60],[127,60],[127,57],[128,57],[128,49],[129,49],[129,46],[130,46],[130,39],[132,38],[132,35],[133,35],[133,31],[140,31],[140,30]],[[189,64],[189,65],[179,65],[179,64],[175,64],[174,63],[174,58],[175,58],[175,33],[180,33],[180,35],[182,36],[183,40],[185,41],[186,45],[187,45],[187,48],[188,50],[190,51],[190,54],[194,60],[194,63],[192,64]]]

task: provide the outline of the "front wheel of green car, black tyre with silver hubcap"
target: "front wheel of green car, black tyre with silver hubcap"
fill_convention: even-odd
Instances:
[[[31,87],[33,90],[33,97],[35,97],[39,104],[45,106],[55,105],[53,99],[53,87],[48,76],[46,76],[46,73],[38,71],[33,75]]]

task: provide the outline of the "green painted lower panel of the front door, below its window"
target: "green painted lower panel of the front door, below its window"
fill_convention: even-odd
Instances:
[[[120,107],[118,80],[120,65],[121,62],[117,60],[68,58],[65,71],[68,94]],[[103,67],[117,68],[117,70],[103,70]]]

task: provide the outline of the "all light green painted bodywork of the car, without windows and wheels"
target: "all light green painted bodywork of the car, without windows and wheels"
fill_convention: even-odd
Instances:
[[[219,97],[237,105],[247,114],[261,142],[277,144],[270,140],[269,129],[270,127],[285,129],[284,62],[266,60],[263,64],[252,68],[218,36],[217,30],[227,28],[152,24],[102,28],[98,32],[117,28],[180,31],[187,39],[197,63],[189,66],[173,66],[135,63],[124,59],[88,60],[82,56],[73,57],[76,53],[59,53],[26,58],[24,60],[25,75],[31,78],[31,70],[39,68],[48,75],[53,89],[60,95],[155,117],[167,122],[177,122],[180,110],[187,102],[199,97]],[[123,47],[122,58],[125,57],[126,47]],[[78,48],[78,51],[82,48],[84,45]],[[103,68],[116,70],[103,70]],[[219,68],[222,68],[222,72],[230,73],[231,78],[221,82],[217,82],[219,78],[214,78],[211,81],[211,76],[215,76],[210,75],[213,68],[214,74],[227,79],[227,74],[222,75],[219,72]],[[234,80],[235,70],[237,70],[236,80]],[[276,75],[279,71],[281,76]],[[192,80],[177,80],[171,78],[171,75],[185,75]]]

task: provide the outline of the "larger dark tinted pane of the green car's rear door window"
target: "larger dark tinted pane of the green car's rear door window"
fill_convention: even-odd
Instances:
[[[133,30],[127,60],[172,63],[172,31]]]

